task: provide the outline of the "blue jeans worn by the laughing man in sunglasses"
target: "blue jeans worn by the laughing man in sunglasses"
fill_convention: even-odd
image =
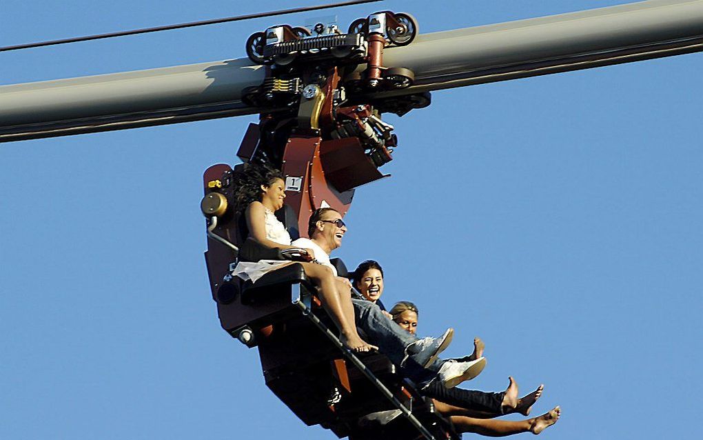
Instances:
[[[406,332],[401,326],[384,315],[378,306],[365,299],[352,298],[356,327],[366,334],[366,342],[378,346],[381,353],[388,356],[392,363],[399,365],[408,379],[418,383],[434,379],[441,363],[435,362],[425,369],[407,356],[406,348],[418,338]],[[412,353],[410,353],[412,354]]]

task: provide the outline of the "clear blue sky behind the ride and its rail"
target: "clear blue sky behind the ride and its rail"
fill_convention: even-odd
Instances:
[[[0,45],[322,3],[18,1]],[[0,84],[240,58],[275,23],[378,9],[421,32],[624,1],[385,1],[0,54]],[[393,177],[356,193],[347,265],[385,302],[486,341],[468,383],[546,384],[544,439],[699,436],[703,54],[437,92],[387,120]],[[0,144],[1,439],[331,439],[266,388],[219,327],[202,172],[252,117]],[[528,436],[529,434],[522,434]]]

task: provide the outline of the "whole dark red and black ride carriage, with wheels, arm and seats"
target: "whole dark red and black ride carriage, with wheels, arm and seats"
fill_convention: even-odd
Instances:
[[[244,93],[260,118],[237,156],[283,171],[285,206],[276,215],[292,239],[307,229],[314,209],[330,206],[344,215],[356,187],[386,177],[378,168],[392,160],[397,139],[382,113],[404,115],[430,104],[427,93],[382,96],[413,84],[411,70],[384,66],[382,54],[410,44],[417,29],[411,15],[383,11],[355,20],[346,34],[335,25],[280,25],[247,40],[247,55],[265,66],[266,77]],[[205,260],[221,326],[259,349],[269,389],[307,425],[340,438],[460,438],[385,356],[355,356],[342,346],[302,265],[255,283],[231,275],[240,259],[290,258],[247,240],[243,215],[232,209],[232,172],[225,164],[205,171]],[[341,260],[333,263],[347,274]]]

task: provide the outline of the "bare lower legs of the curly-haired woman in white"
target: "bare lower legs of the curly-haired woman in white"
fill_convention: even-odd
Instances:
[[[340,293],[337,291],[337,280],[332,271],[323,265],[315,263],[301,264],[305,270],[305,275],[310,277],[317,285],[322,306],[327,310],[337,328],[340,329],[342,344],[355,352],[372,350],[374,347],[363,341],[359,337],[359,333],[356,332],[354,308],[352,308],[352,320],[347,319],[347,315],[344,313],[344,306],[342,305],[342,298],[340,298]],[[347,296],[345,301],[349,302],[349,306],[352,307],[352,298]]]

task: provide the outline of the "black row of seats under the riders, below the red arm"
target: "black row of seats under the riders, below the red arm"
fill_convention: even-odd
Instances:
[[[287,225],[291,238],[297,239],[297,217],[292,208],[285,206],[276,215]],[[214,233],[241,249],[248,236],[244,216],[224,215]],[[374,382],[344,360],[333,344],[328,334],[335,333],[336,327],[323,308],[312,307],[316,289],[302,265],[292,263],[263,275],[255,283],[243,282],[228,276],[235,259],[231,248],[213,239],[208,239],[208,244],[207,267],[221,325],[233,337],[245,330],[254,336],[247,345],[258,346],[269,389],[307,425],[322,425],[340,438],[352,434],[356,438],[372,438],[377,432],[389,432],[389,428],[373,427],[373,423],[359,425],[369,413],[397,408]],[[340,276],[347,275],[342,260],[331,262]],[[412,408],[418,419],[426,416],[423,398],[385,356],[368,353],[357,358],[398,401]],[[389,420],[387,425],[397,425],[408,432],[415,429],[406,417],[397,418],[401,420]],[[390,436],[397,438],[395,434]]]

